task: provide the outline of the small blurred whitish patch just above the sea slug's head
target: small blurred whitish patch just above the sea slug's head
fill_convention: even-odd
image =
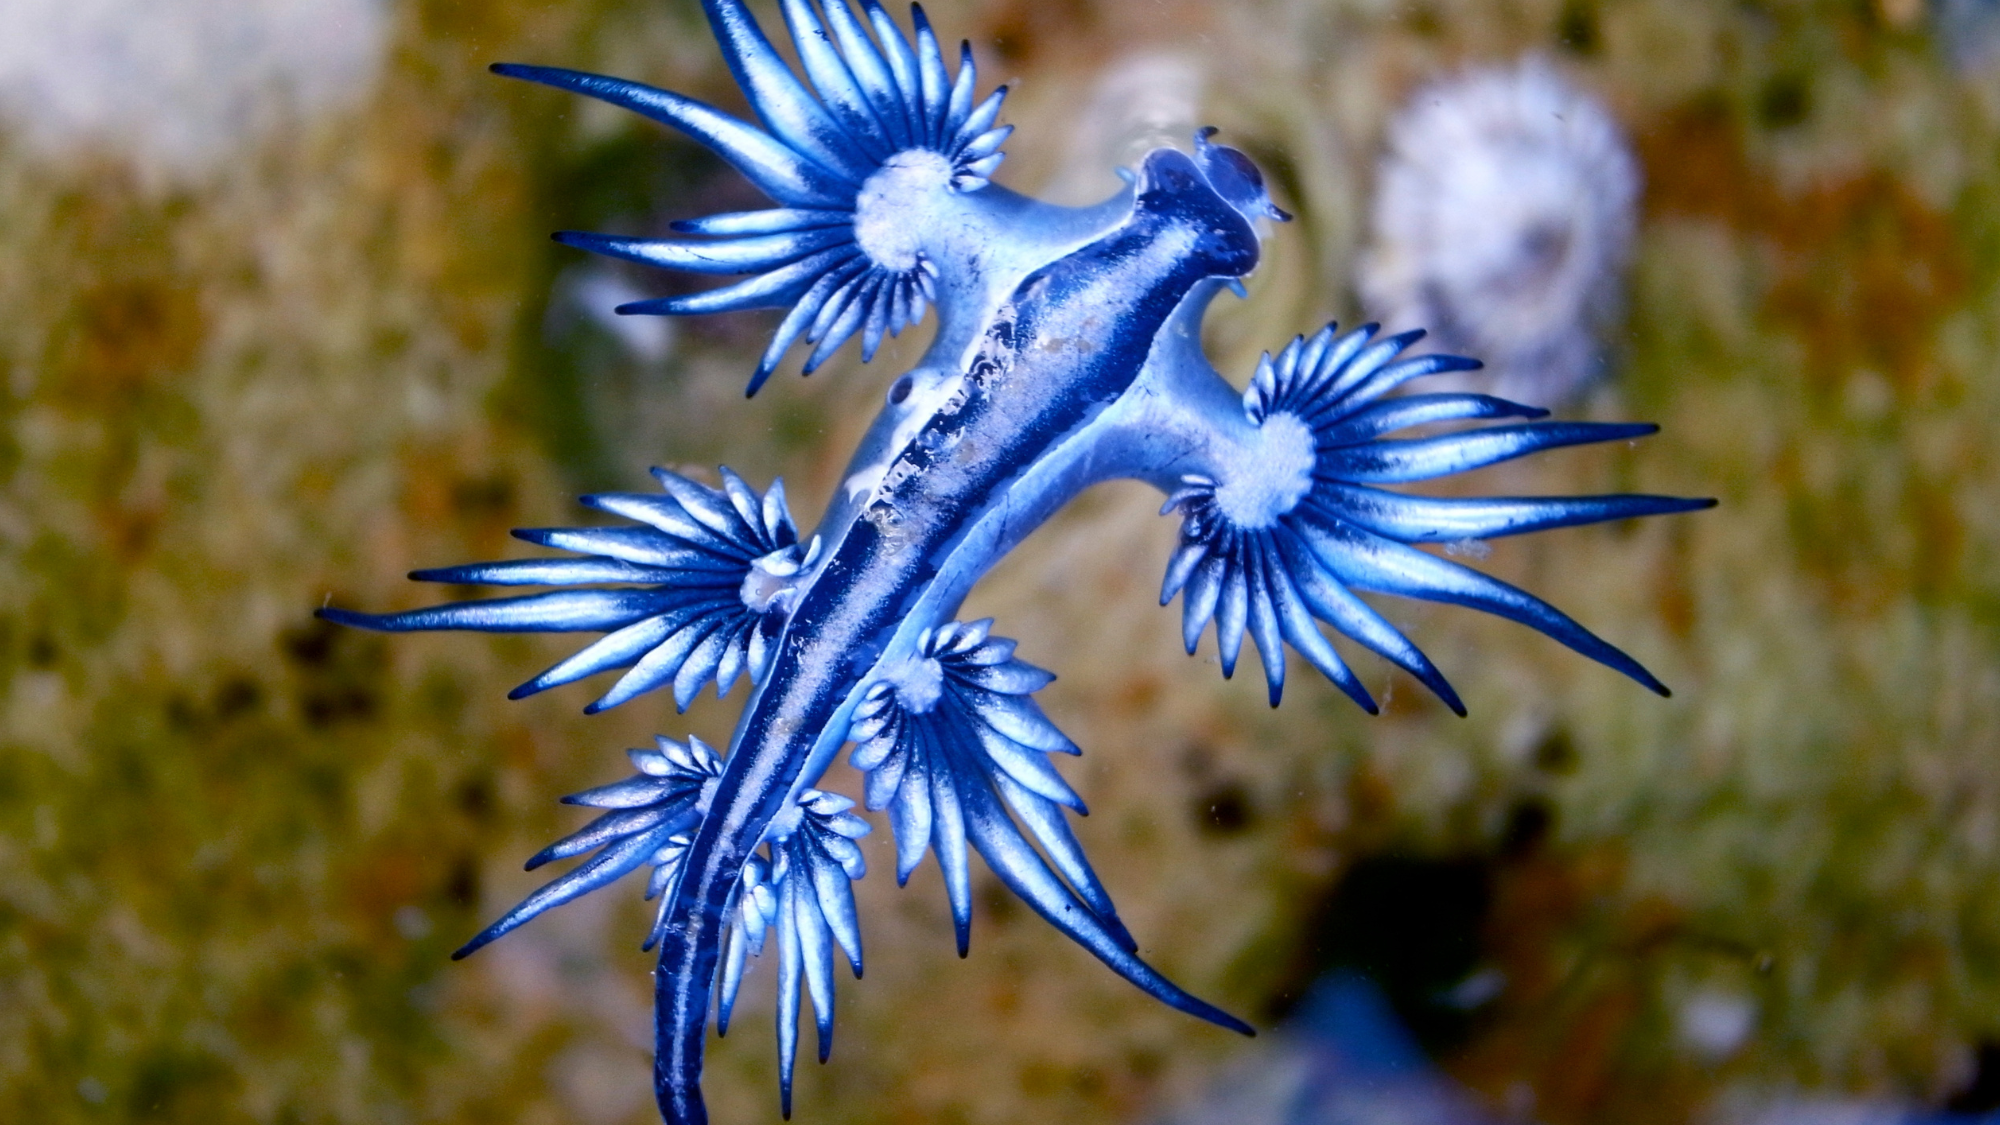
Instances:
[[[1202,124],[1206,84],[1200,60],[1186,54],[1120,58],[1072,118],[1062,170],[1040,194],[1060,204],[1092,204],[1118,190],[1112,168],[1136,168],[1154,148],[1188,148]]]

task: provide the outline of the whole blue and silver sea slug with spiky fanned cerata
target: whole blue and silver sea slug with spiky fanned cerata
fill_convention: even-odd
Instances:
[[[630,781],[570,797],[602,809],[530,859],[586,857],[458,955],[538,913],[650,867],[658,921],[660,1111],[706,1121],[710,1011],[726,1027],[750,957],[778,961],[780,1083],[790,1113],[800,991],[818,1051],[832,1045],[834,969],[860,975],[850,883],[864,873],[854,801],[816,789],[842,747],[886,811],[898,877],[926,853],[944,873],[958,947],[972,911],[968,847],[1056,929],[1146,993],[1248,1033],[1136,957],[1110,893],[1066,823],[1082,799],[1050,765],[1076,747],[1036,707],[1052,677],[988,621],[954,615],[972,585],[1078,490],[1134,476],[1182,516],[1162,605],[1182,599],[1186,643],[1214,623],[1224,675],[1256,643],[1270,701],[1290,645],[1364,709],[1374,701],[1318,623],[1410,671],[1454,711],[1436,667],[1354,591],[1496,613],[1666,693],[1636,661],[1546,603],[1414,542],[1682,512],[1668,496],[1426,498],[1428,480],[1536,450],[1624,440],[1644,424],[1542,422],[1546,410],[1482,394],[1392,394],[1474,360],[1406,356],[1420,332],[1326,326],[1258,364],[1236,392],[1202,356],[1208,302],[1256,268],[1288,218],[1256,166],[1202,130],[1160,148],[1126,190],[1060,208],[990,182],[1010,126],[1002,90],[978,98],[970,46],[956,72],[920,8],[914,36],[876,2],[784,0],[804,80],[738,0],[704,0],[758,124],[616,78],[540,66],[500,74],[602,98],[678,128],[736,166],[774,206],[676,224],[684,238],[558,234],[584,250],[674,270],[746,274],[636,314],[786,308],[750,376],[794,344],[812,370],[844,340],[874,354],[936,308],[916,368],[890,382],[820,526],[802,536],[782,484],[728,468],[710,486],[656,470],[658,492],[584,496],[622,522],[520,530],[568,554],[418,571],[420,581],[552,587],[364,615],[382,631],[578,631],[604,637],[514,697],[624,669],[590,711],[670,689],[686,707],[710,681],[750,697],[724,755],[660,739]],[[1428,422],[1496,422],[1388,436]]]

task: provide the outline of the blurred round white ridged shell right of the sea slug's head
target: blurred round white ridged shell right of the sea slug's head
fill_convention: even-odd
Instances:
[[[1486,360],[1458,388],[1554,406],[1602,368],[1638,186],[1618,122],[1540,58],[1426,86],[1388,126],[1362,300]]]

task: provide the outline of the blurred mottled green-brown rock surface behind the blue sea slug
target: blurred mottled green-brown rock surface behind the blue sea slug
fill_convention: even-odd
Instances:
[[[724,743],[742,697],[584,721],[586,689],[502,699],[564,639],[384,641],[310,613],[424,605],[440,591],[404,571],[526,554],[510,526],[574,522],[570,494],[646,486],[648,464],[782,474],[810,522],[928,324],[868,368],[850,346],[800,380],[794,358],[744,402],[772,314],[626,336],[590,314],[610,288],[680,282],[588,272],[546,232],[756,196],[644,120],[484,68],[742,112],[692,2],[356,0],[316,24],[242,0],[194,30],[16,4],[0,1119],[654,1119],[636,881],[446,955],[538,885],[520,861],[580,823],[554,797],[622,777],[618,751],[654,731]],[[1268,711],[1254,671],[1222,683],[1212,643],[1186,659],[1178,611],[1154,605],[1174,536],[1156,496],[1086,494],[968,615],[1062,675],[1042,699],[1086,749],[1078,831],[1144,955],[1266,1027],[1320,971],[1362,967],[1496,1113],[1556,1125],[2000,1101],[1982,1101],[2000,1057],[1980,1075],[1982,1045],[2000,1055],[1992,6],[930,14],[974,42],[982,90],[1014,84],[1000,180],[1070,202],[1116,186],[1080,112],[1104,76],[1194,78],[1174,96],[1300,214],[1252,300],[1210,320],[1238,380],[1260,348],[1356,318],[1396,106],[1544,54],[1606,100],[1646,176],[1618,374],[1570,412],[1664,432],[1474,484],[1722,500],[1484,562],[1670,701],[1524,629],[1384,603],[1464,693],[1460,721],[1378,661],[1360,669],[1380,719],[1304,677]],[[122,38],[78,34],[92,18]],[[828,785],[858,793],[846,767]],[[864,845],[870,973],[842,985],[834,1061],[802,1067],[802,1121],[1132,1121],[1258,1049],[1138,995],[990,881],[958,961],[934,869],[898,891],[886,825]],[[712,1045],[716,1121],[776,1119],[768,977]],[[1470,979],[1494,985],[1482,1003],[1446,1003]],[[1716,1013],[1742,1033],[1704,1033]]]

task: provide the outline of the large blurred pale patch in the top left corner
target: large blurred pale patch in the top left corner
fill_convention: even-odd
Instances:
[[[266,130],[352,100],[382,60],[382,0],[6,0],[0,118],[46,152],[108,146],[200,174]]]

